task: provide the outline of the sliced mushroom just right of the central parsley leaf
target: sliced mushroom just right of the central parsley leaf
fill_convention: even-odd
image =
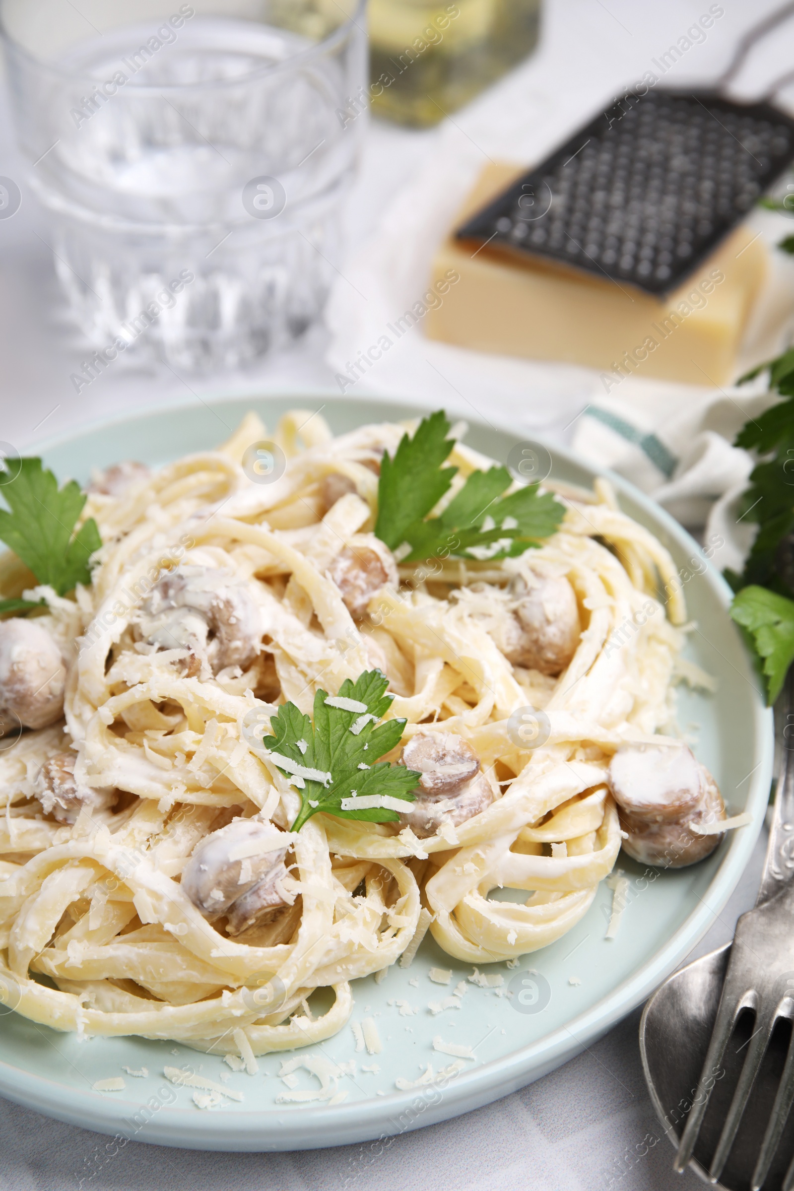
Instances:
[[[470,744],[454,732],[418,732],[402,749],[401,762],[421,774],[415,802],[400,822],[426,840],[445,823],[464,823],[494,800]]]

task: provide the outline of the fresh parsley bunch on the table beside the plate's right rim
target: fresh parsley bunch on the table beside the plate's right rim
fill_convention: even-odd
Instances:
[[[731,616],[761,661],[771,704],[794,661],[794,349],[761,364],[739,384],[767,369],[769,388],[786,400],[737,435],[737,447],[759,456],[740,515],[755,522],[758,532],[743,573],[726,570],[725,578],[737,592]]]

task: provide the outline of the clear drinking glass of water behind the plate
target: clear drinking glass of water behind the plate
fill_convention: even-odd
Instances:
[[[105,361],[245,366],[318,318],[364,125],[344,116],[364,7],[0,0],[24,182]]]

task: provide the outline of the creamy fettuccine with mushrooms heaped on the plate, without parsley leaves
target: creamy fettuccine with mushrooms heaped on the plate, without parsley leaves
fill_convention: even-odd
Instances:
[[[606,484],[548,481],[564,520],[538,548],[400,562],[374,525],[405,431],[335,438],[298,411],[271,435],[274,478],[243,467],[268,437],[249,414],[217,451],[95,476],[90,586],[60,597],[5,555],[5,594],[27,582],[46,604],[0,623],[4,741],[21,725],[0,752],[0,979],[26,1017],[215,1053],[240,1030],[254,1054],[319,1041],[348,1021],[351,981],[409,962],[427,929],[479,965],[551,943],[631,815],[651,822],[626,794],[621,833],[611,767],[665,743],[692,756],[667,550]],[[490,462],[456,442],[451,494]],[[311,716],[318,691],[355,716],[339,691],[374,671],[386,721],[405,721],[385,760],[414,771],[413,800],[293,830],[314,771],[279,763],[270,717]]]

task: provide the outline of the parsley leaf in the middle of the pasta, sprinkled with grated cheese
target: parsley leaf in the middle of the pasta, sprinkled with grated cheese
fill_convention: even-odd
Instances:
[[[365,671],[355,682],[345,679],[339,694],[330,701],[326,691],[317,692],[313,727],[311,718],[294,703],[279,707],[279,715],[271,717],[275,738],[265,736],[265,747],[277,754],[274,760],[282,773],[294,774],[298,767],[293,782],[300,788],[301,809],[292,831],[300,831],[304,823],[318,811],[338,818],[364,819],[368,823],[399,821],[396,811],[388,805],[343,810],[343,798],[368,798],[375,794],[399,798],[406,803],[414,800],[411,791],[415,788],[421,774],[401,765],[389,765],[388,761],[375,763],[400,743],[405,728],[405,719],[377,723],[392,701],[385,694],[387,686],[388,679],[380,671]],[[338,699],[354,700],[358,704],[358,710],[333,706]],[[362,706],[365,710],[362,711]],[[288,765],[280,765],[279,757]],[[317,771],[318,779],[319,774],[326,774],[327,778],[323,781],[306,777],[306,769]],[[304,775],[300,771],[304,771]]]

